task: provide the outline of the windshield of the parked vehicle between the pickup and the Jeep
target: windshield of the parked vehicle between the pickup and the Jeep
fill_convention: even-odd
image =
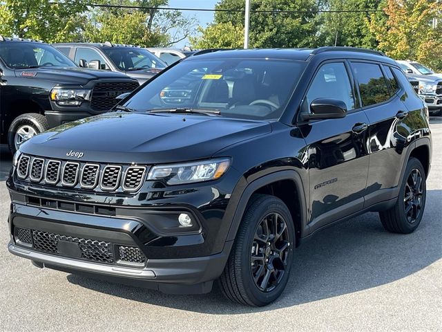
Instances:
[[[120,71],[139,71],[141,69],[166,68],[166,64],[148,50],[135,47],[103,48],[104,53]]]

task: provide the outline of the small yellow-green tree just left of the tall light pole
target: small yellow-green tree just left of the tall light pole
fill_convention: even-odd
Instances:
[[[193,48],[241,48],[244,44],[244,28],[233,26],[230,22],[210,24],[198,28],[203,37],[191,37]]]

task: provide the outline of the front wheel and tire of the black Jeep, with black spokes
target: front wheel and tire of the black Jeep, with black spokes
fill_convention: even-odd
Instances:
[[[265,223],[269,228],[278,224],[278,240],[274,243],[273,240],[265,241],[267,235],[274,232],[274,228],[267,233],[263,232]],[[284,223],[286,227],[283,227]],[[260,239],[256,239],[255,235]],[[218,279],[224,296],[233,302],[249,306],[265,306],[275,301],[287,285],[295,241],[294,223],[285,203],[275,196],[253,195],[242,218],[227,264]],[[273,273],[270,272],[268,278],[269,283],[265,283],[267,266],[269,270],[273,267]],[[253,275],[258,276],[257,282]],[[263,284],[265,287],[260,288]]]

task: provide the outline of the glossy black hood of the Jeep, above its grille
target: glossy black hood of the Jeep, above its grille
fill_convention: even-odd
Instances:
[[[210,158],[217,151],[271,132],[265,121],[171,113],[105,113],[41,133],[23,153],[102,163],[174,163]]]

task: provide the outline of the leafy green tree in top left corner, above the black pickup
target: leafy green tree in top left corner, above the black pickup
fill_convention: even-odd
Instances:
[[[86,1],[0,1],[0,35],[67,42],[79,39],[86,17]]]

